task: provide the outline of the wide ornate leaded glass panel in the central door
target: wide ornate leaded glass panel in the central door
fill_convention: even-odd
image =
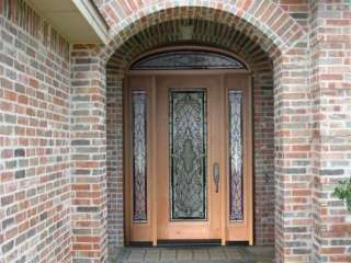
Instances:
[[[170,91],[171,219],[206,219],[206,93]]]

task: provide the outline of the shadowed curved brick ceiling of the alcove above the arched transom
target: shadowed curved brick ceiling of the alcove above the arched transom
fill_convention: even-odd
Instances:
[[[270,65],[268,54],[242,32],[208,20],[180,19],[151,25],[128,38],[115,50],[110,68],[122,69],[150,49],[176,44],[199,44],[230,50],[251,67]]]

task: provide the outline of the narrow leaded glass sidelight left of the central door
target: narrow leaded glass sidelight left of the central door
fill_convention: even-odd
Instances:
[[[147,147],[145,91],[132,92],[133,220],[147,220]]]

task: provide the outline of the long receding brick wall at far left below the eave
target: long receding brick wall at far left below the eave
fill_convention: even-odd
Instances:
[[[0,1],[0,262],[70,262],[69,44]]]

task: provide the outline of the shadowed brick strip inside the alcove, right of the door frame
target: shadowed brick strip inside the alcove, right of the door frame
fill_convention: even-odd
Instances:
[[[252,61],[254,242],[274,243],[274,94],[272,61],[262,50]]]

